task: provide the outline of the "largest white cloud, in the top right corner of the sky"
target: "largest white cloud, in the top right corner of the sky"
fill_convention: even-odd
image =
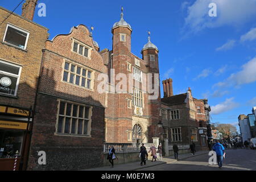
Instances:
[[[217,17],[209,16],[209,4],[216,3]],[[187,8],[183,31],[196,33],[204,28],[239,27],[256,16],[256,0],[196,0]]]

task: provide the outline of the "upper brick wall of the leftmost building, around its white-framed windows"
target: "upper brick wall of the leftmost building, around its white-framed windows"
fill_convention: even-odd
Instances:
[[[3,19],[10,11],[0,7],[0,18]],[[3,43],[7,23],[30,32],[26,50]],[[0,27],[0,60],[22,66],[19,87],[16,97],[0,94],[0,104],[30,108],[34,105],[36,84],[38,82],[42,49],[48,38],[48,29],[26,20],[17,14],[9,16]]]

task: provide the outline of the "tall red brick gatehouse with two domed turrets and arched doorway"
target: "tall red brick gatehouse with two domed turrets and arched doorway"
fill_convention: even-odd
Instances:
[[[159,51],[149,36],[141,51],[142,59],[135,56],[131,52],[132,31],[122,13],[112,28],[113,50],[101,52],[110,77],[105,112],[106,143],[147,143],[158,135],[160,86],[155,87],[156,98],[151,100],[147,87],[143,85],[154,78],[159,82]],[[148,73],[153,77],[147,79]],[[120,85],[119,77],[127,78],[127,84]],[[113,91],[114,88],[121,89]]]

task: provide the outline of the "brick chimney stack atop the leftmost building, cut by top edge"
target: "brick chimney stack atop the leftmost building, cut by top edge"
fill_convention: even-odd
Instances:
[[[22,6],[22,16],[26,19],[33,20],[35,7],[38,0],[26,0]]]

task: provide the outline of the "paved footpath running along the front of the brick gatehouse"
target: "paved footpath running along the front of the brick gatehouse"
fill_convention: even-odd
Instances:
[[[208,151],[199,151],[196,152],[195,155],[189,154],[181,154],[179,155],[179,160],[188,159],[188,158],[194,158],[196,156],[205,155],[208,154]],[[150,156],[149,156],[150,158]],[[162,166],[163,164],[172,164],[177,162],[176,159],[174,159],[174,156],[171,156],[169,158],[163,158],[162,160],[157,160],[156,162],[151,162],[151,160],[147,160],[146,166],[141,166],[141,162],[133,162],[133,163],[127,163],[127,164],[119,164],[117,166],[114,166],[114,168],[111,168],[110,166],[106,167],[100,167],[100,168],[92,168],[92,169],[85,169],[82,171],[135,171],[139,169],[153,169],[157,166]]]

